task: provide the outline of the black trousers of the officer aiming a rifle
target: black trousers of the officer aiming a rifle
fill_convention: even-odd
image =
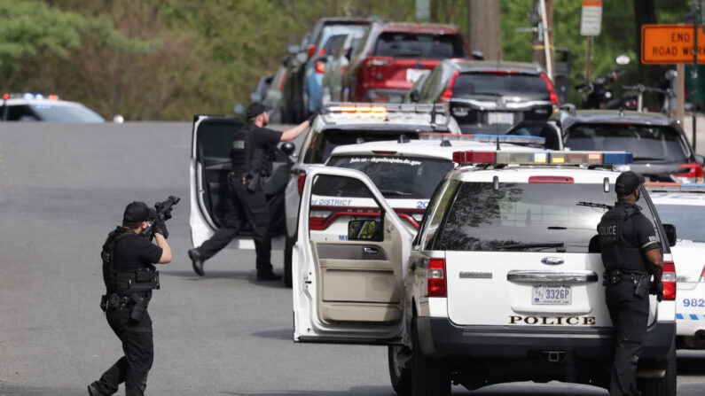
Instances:
[[[108,309],[106,316],[110,328],[122,342],[125,355],[107,369],[93,386],[101,396],[112,395],[124,382],[126,396],[142,396],[154,360],[152,318],[145,310],[139,322],[130,321],[129,308]]]

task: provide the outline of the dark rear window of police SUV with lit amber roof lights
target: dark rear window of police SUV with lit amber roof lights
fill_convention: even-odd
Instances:
[[[418,139],[419,134],[414,132],[388,131],[357,131],[328,129],[315,134],[306,149],[303,162],[307,164],[323,164],[331,156],[333,149],[342,144],[356,144],[358,139],[363,142],[380,142],[383,140],[396,140],[399,135],[406,135],[410,139]]]

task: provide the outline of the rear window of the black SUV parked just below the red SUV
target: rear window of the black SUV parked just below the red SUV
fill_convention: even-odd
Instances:
[[[453,85],[453,97],[496,94],[550,98],[546,83],[537,74],[463,73]]]

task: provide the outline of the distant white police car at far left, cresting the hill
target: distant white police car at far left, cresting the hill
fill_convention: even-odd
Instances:
[[[114,120],[121,122],[121,116],[115,116]],[[85,105],[60,100],[56,95],[6,93],[0,101],[0,121],[105,122],[106,119]]]

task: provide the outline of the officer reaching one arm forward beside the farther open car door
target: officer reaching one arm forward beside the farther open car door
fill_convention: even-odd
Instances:
[[[252,229],[257,254],[258,281],[275,281],[281,276],[272,271],[270,262],[270,214],[263,185],[272,172],[271,145],[294,140],[310,126],[316,114],[294,128],[278,132],[264,128],[270,115],[259,102],[247,107],[247,128],[236,132],[231,147],[232,169],[228,176],[231,189],[230,200],[225,202],[223,227],[215,232],[203,245],[189,250],[193,270],[203,276],[203,261],[228,245],[239,234],[244,221]]]

